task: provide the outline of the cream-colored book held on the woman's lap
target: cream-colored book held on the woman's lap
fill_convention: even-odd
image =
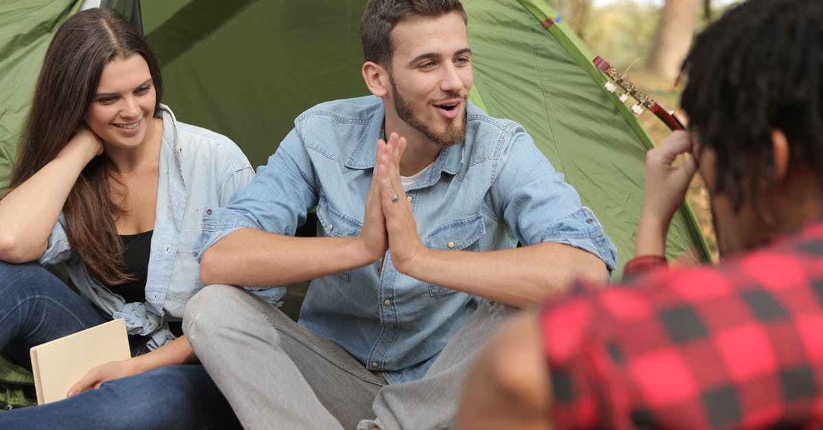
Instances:
[[[30,355],[37,404],[63,400],[68,389],[92,368],[132,357],[123,319],[32,347]]]

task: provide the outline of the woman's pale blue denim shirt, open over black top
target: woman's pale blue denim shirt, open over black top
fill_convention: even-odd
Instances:
[[[40,264],[65,263],[69,277],[83,297],[112,318],[123,318],[129,334],[148,336],[146,346],[159,348],[174,339],[166,324],[179,321],[190,297],[202,288],[193,245],[206,206],[226,204],[236,189],[249,184],[254,171],[229,138],[193,125],[178,123],[160,105],[163,137],[154,233],[151,236],[146,302],[126,303],[89,275],[79,255],[72,253],[63,215],[49,236]],[[279,301],[284,289],[265,292]]]

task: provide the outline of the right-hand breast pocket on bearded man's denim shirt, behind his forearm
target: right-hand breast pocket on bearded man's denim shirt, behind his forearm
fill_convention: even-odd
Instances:
[[[486,234],[483,217],[477,213],[452,222],[447,222],[431,231],[425,240],[425,246],[432,250],[467,250],[479,251],[480,239]],[[451,288],[433,283],[429,285],[429,295],[443,296],[457,292]]]

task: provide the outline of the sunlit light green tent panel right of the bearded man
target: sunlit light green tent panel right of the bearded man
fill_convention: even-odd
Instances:
[[[545,2],[464,4],[475,85],[487,112],[523,124],[602,222],[620,250],[622,269],[634,254],[645,152],[653,146],[649,135],[617,95],[606,91],[606,77],[574,31],[560,19],[544,28],[542,22],[556,16]],[[687,204],[672,220],[667,239],[670,258],[697,250],[708,259],[708,246]]]

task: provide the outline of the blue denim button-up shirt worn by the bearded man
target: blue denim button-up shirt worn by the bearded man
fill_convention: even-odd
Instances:
[[[293,235],[315,206],[318,236],[359,234],[383,123],[383,102],[374,96],[324,103],[300,115],[249,187],[203,217],[199,255],[242,227]],[[471,104],[465,141],[444,147],[407,199],[431,249],[486,251],[550,241],[615,267],[616,248],[597,218],[525,130]],[[317,258],[325,258],[322,250]],[[300,324],[396,383],[423,376],[478,301],[398,273],[387,253],[382,268],[375,262],[314,279]]]

